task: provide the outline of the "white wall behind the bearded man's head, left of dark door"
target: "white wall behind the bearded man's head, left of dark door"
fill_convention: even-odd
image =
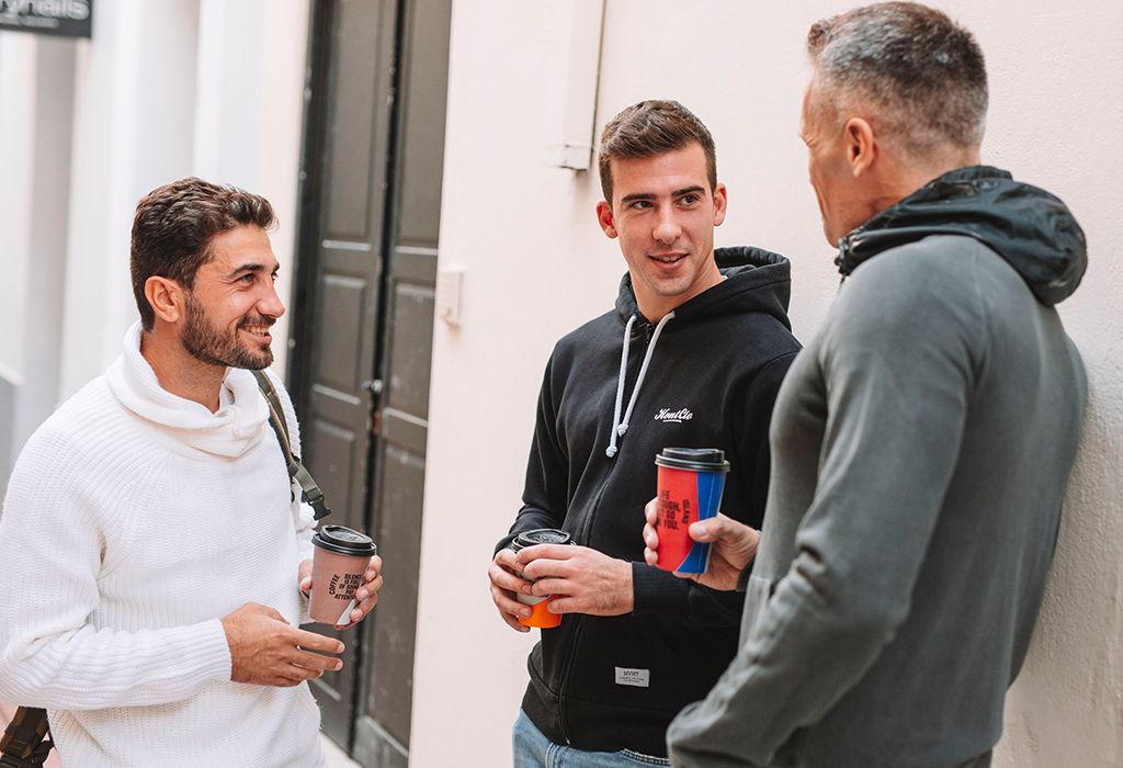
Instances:
[[[291,294],[307,25],[308,0],[98,2],[77,44],[60,400],[120,354],[133,216],[161,184],[200,175],[268,198]],[[285,317],[274,338],[287,332]]]

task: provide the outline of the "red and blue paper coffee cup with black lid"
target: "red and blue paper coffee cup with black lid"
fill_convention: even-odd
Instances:
[[[659,468],[656,566],[681,574],[704,574],[710,564],[710,545],[694,541],[687,529],[692,522],[718,514],[729,472],[725,454],[716,448],[664,448],[655,464]]]

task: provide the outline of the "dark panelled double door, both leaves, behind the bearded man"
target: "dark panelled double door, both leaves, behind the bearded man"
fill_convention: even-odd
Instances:
[[[313,684],[364,766],[408,765],[451,0],[314,0],[289,383],[304,457],[385,561]]]

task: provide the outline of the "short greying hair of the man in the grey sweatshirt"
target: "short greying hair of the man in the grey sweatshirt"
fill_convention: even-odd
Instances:
[[[978,148],[986,128],[987,79],[974,35],[916,2],[882,2],[816,21],[807,33],[816,97],[836,111],[870,103],[886,135],[924,156]]]

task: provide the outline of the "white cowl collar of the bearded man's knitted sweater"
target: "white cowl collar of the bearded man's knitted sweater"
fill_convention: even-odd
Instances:
[[[181,452],[235,458],[268,431],[268,406],[248,371],[229,369],[223,386],[234,402],[216,413],[163,388],[140,354],[139,321],[125,333],[125,349],[106,372],[106,380],[127,411],[156,428],[165,438],[162,442]]]

